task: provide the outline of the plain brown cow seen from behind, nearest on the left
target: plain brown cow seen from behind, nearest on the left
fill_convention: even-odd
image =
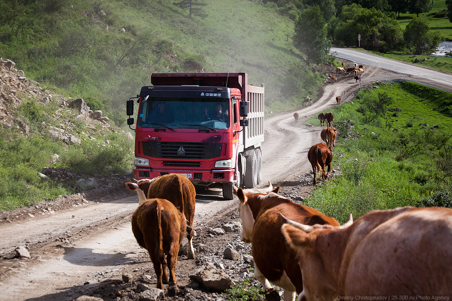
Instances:
[[[132,215],[133,235],[138,244],[148,250],[157,274],[157,288],[161,290],[163,283],[169,283],[173,290],[176,289],[177,253],[185,231],[184,215],[165,199],[146,200]]]

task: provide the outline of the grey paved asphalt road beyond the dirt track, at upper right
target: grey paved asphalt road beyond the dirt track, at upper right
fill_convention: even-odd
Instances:
[[[408,74],[412,79],[421,84],[452,91],[452,73],[449,72],[434,70],[399,60],[387,59],[350,48],[331,47],[330,54],[344,60],[354,61],[357,64],[363,64],[364,66],[373,65],[382,69],[392,70],[396,73],[400,72],[400,78],[404,74]],[[375,75],[375,77],[378,77],[378,75]],[[380,78],[379,80],[383,81],[385,79]]]

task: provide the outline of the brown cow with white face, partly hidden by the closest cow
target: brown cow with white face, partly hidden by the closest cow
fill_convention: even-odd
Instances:
[[[297,265],[294,249],[288,247],[281,233],[283,218],[289,215],[299,223],[338,226],[332,217],[321,212],[295,204],[275,192],[253,193],[234,186],[239,198],[239,212],[242,219],[240,240],[252,243],[255,276],[262,285],[266,300],[280,300],[271,283],[284,289],[284,300],[294,301],[295,292],[302,291],[301,270]]]

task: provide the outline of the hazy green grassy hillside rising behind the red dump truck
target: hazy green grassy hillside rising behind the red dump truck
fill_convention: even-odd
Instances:
[[[269,111],[315,95],[323,75],[305,68],[287,17],[248,0],[204,3],[190,19],[170,0],[1,0],[0,55],[117,124],[153,72],[247,72],[265,84]]]

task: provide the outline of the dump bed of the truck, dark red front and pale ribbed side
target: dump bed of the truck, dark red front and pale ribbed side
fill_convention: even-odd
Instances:
[[[246,73],[153,73],[154,86],[212,86],[237,88],[248,102],[249,126],[243,130],[243,146],[259,147],[264,141],[264,88],[248,85]]]

